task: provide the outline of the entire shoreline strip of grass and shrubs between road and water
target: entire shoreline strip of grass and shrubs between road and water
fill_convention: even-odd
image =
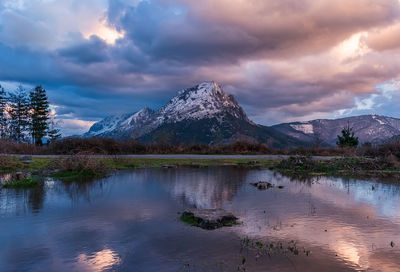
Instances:
[[[116,170],[137,168],[176,168],[236,166],[269,169],[288,176],[360,175],[380,177],[400,175],[400,167],[377,159],[363,157],[302,157],[272,155],[121,155],[121,156],[60,156],[7,155],[0,161],[0,172],[31,172],[38,176],[52,173],[73,173],[72,176],[96,177]],[[261,159],[260,159],[260,156]],[[1,156],[0,156],[1,157]],[[3,156],[4,158],[4,156]],[[67,166],[63,164],[68,164]],[[89,172],[86,170],[90,170]],[[62,175],[61,175],[62,176]]]

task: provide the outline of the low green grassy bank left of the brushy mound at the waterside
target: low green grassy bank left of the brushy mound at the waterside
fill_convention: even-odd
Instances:
[[[137,158],[91,158],[89,156],[71,156],[69,158],[32,158],[29,162],[16,157],[7,157],[13,161],[12,167],[0,163],[1,172],[28,171],[39,176],[52,176],[62,180],[80,180],[100,178],[115,170],[136,168],[175,168],[179,166],[237,166],[270,168],[274,160],[254,159],[137,159]],[[6,160],[4,160],[6,161]],[[1,159],[0,159],[1,162]]]

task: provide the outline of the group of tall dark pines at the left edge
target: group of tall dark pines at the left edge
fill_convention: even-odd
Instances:
[[[60,132],[50,116],[46,90],[36,86],[27,92],[22,86],[9,92],[0,85],[0,137],[15,142],[43,145],[55,141]]]

